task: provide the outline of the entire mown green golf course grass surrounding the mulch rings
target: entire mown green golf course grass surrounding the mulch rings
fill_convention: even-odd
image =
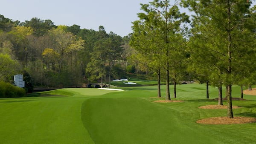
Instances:
[[[171,95],[172,95],[171,86]],[[207,125],[198,119],[226,116],[226,109],[198,109],[218,104],[218,89],[177,85],[182,103],[152,103],[157,86],[102,89],[58,89],[44,97],[0,99],[0,140],[3,144],[253,144],[256,123]],[[233,86],[233,97],[239,97]],[[161,87],[162,96],[166,95]],[[65,95],[65,96],[60,96]],[[233,101],[234,116],[256,117],[256,96]],[[227,104],[224,101],[224,104]]]

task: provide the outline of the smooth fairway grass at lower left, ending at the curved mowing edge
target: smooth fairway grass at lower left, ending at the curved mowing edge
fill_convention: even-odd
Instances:
[[[83,101],[66,97],[1,99],[1,144],[93,143],[81,123]]]

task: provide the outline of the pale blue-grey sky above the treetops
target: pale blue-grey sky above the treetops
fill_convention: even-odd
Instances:
[[[0,14],[4,17],[25,22],[33,17],[52,20],[58,25],[81,26],[94,29],[104,26],[107,33],[120,36],[132,33],[133,21],[138,20],[140,3],[153,0],[1,0]],[[175,0],[170,0],[175,3]],[[253,5],[256,1],[253,1]],[[186,10],[182,10],[188,12]]]

